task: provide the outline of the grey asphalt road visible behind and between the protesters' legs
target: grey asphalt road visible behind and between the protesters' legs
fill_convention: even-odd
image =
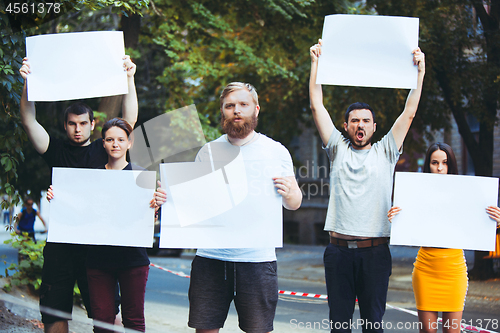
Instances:
[[[5,237],[7,234],[0,232],[0,239]],[[300,293],[326,294],[325,284],[322,281],[321,252],[322,249],[319,247],[289,247],[278,250],[279,289]],[[413,262],[415,253],[415,249],[411,248],[394,251],[393,259],[394,262],[397,262],[397,267],[394,267],[393,271],[394,274],[398,274],[397,278],[403,282],[405,279],[409,279],[409,276],[401,274],[398,270],[407,270]],[[7,262],[17,260],[16,251],[7,245],[0,244],[0,254],[7,256]],[[181,258],[171,258],[166,257],[165,252],[160,252],[159,256],[151,257],[151,262],[172,271],[189,274],[193,255],[194,253],[184,253]],[[408,286],[408,283],[401,285]],[[187,327],[188,288],[189,278],[180,277],[155,267],[150,268],[145,303],[148,332],[194,332],[193,329]],[[18,308],[29,307],[30,313],[37,315],[36,298],[28,298],[23,295],[22,298],[19,297],[19,300],[21,305],[18,305]],[[415,311],[411,289],[391,288],[388,294],[388,304],[396,309],[388,307],[386,311],[384,317],[386,332],[418,332],[417,318],[412,313],[405,312]],[[498,329],[500,313],[497,309],[498,307],[492,306],[490,301],[484,301],[480,297],[468,297],[464,320],[474,325],[482,321],[483,327],[486,324],[485,320],[496,320],[497,329],[492,327],[494,322],[490,322],[489,328],[500,331]],[[74,320],[70,326],[74,332],[92,332],[90,321],[84,315],[84,310],[75,308]],[[357,323],[358,319],[359,312],[356,311],[353,322]],[[280,295],[274,331],[329,331],[327,301]],[[221,332],[241,332],[238,328],[234,306],[231,307],[225,327]],[[361,332],[361,329],[354,325],[353,332]]]

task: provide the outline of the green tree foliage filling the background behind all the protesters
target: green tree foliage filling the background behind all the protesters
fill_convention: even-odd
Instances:
[[[314,126],[307,89],[310,63],[308,50],[321,36],[325,15],[379,13],[420,16],[421,45],[427,53],[428,70],[419,113],[405,141],[405,151],[411,153],[424,150],[423,139],[428,129],[443,128],[449,123],[449,107],[440,95],[441,87],[435,79],[433,68],[458,68],[457,78],[460,79],[456,81],[468,82],[468,87],[475,90],[464,95],[460,95],[460,89],[454,90],[453,96],[457,96],[457,100],[467,101],[468,108],[479,110],[483,105],[476,104],[478,99],[474,94],[481,91],[483,85],[479,79],[471,76],[474,74],[473,67],[461,73],[463,62],[448,62],[447,55],[433,56],[439,48],[455,52],[459,49],[457,45],[469,45],[464,33],[477,37],[477,31],[465,28],[470,26],[470,15],[466,12],[458,15],[458,9],[453,8],[464,2],[65,0],[63,3],[68,6],[68,11],[64,15],[54,18],[50,24],[39,24],[29,34],[123,30],[126,42],[132,41],[126,43],[127,53],[138,68],[135,76],[140,110],[137,125],[170,110],[196,104],[205,135],[210,140],[214,139],[220,135],[218,96],[222,88],[231,81],[250,82],[259,92],[261,112],[258,130],[289,145],[292,138],[300,134],[299,127]],[[130,13],[139,14],[142,18],[134,21]],[[0,27],[8,24],[6,16],[1,15],[0,12]],[[447,19],[447,16],[450,18]],[[461,24],[453,24],[455,17],[463,19],[459,21]],[[453,33],[444,33],[446,31]],[[480,34],[480,30],[478,32]],[[0,133],[7,133],[7,128],[15,129],[15,132],[5,137],[11,140],[11,146],[18,148],[19,153],[15,149],[4,151],[7,144],[0,136],[0,154],[8,155],[1,155],[0,163],[7,169],[11,168],[9,176],[2,174],[1,180],[2,183],[11,184],[12,189],[16,188],[20,193],[31,190],[36,195],[49,185],[50,171],[40,168],[44,162],[26,143],[19,126],[17,102],[22,82],[17,69],[24,54],[24,35],[21,34],[20,38],[16,34],[2,37],[5,40],[1,53],[7,57],[0,57],[4,61],[0,62],[0,72],[7,74],[0,76],[0,89],[2,99],[10,96],[7,102],[2,101],[2,105],[6,106],[4,113],[10,117],[10,125],[1,128]],[[437,39],[436,36],[440,34],[443,36]],[[12,60],[9,60],[8,54]],[[479,56],[478,59],[484,57]],[[468,80],[465,76],[474,79]],[[498,77],[499,73],[495,78]],[[496,82],[500,84],[498,79]],[[324,87],[325,105],[337,126],[342,126],[344,110],[352,102],[366,101],[377,110],[378,130],[375,140],[390,129],[404,108],[407,94],[407,90]],[[97,99],[84,102],[94,110],[99,109]],[[68,104],[70,102],[37,103],[37,119],[53,137],[65,137],[61,114]],[[98,116],[105,119],[104,113]],[[7,116],[1,117],[7,119]],[[0,127],[3,124],[7,122],[2,121]],[[4,172],[3,169],[0,172]],[[17,181],[16,176],[19,176]]]

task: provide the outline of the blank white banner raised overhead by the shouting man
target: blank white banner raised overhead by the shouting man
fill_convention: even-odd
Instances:
[[[359,87],[416,88],[418,18],[329,15],[316,83]]]

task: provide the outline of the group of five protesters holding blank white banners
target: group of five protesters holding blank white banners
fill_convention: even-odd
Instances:
[[[380,323],[391,274],[390,220],[400,211],[399,207],[391,208],[393,174],[417,112],[425,75],[425,56],[419,48],[413,51],[413,63],[418,67],[417,88],[410,91],[405,108],[389,133],[372,144],[375,113],[366,103],[358,102],[348,107],[343,128],[346,136],[335,128],[323,105],[321,85],[316,84],[321,40],[310,48],[310,55],[311,110],[331,167],[331,193],[325,221],[330,244],[325,249],[324,264],[330,321],[341,323],[332,325],[331,330],[350,332],[350,325],[342,323],[352,321],[357,299],[365,323],[363,332],[382,332]],[[69,140],[49,136],[36,121],[35,105],[28,102],[25,85],[21,119],[30,141],[50,167],[136,168],[126,160],[126,152],[132,144],[130,134],[138,114],[134,84],[136,66],[125,57],[124,68],[128,74],[129,92],[123,98],[122,118],[106,122],[102,139],[94,142],[89,139],[94,129],[93,113],[82,103],[71,105],[65,112],[64,128]],[[27,59],[20,72],[24,79],[29,75]],[[238,147],[244,160],[278,162],[281,173],[273,178],[276,191],[282,196],[286,209],[298,209],[302,192],[293,173],[290,153],[279,142],[255,131],[260,111],[255,88],[248,83],[228,84],[220,95],[220,111],[225,134],[213,142],[222,150]],[[201,148],[197,161],[214,162],[217,159],[212,154],[211,144]],[[431,146],[425,164],[425,172],[457,172],[453,152],[445,144]],[[49,192],[50,198],[57,198],[57,189]],[[165,191],[158,188],[150,205],[157,208],[166,200]],[[497,207],[488,207],[487,213],[500,223]],[[431,324],[436,321],[437,311],[447,313],[445,318],[460,321],[467,284],[461,251],[429,248],[419,251],[414,288],[423,332],[435,331]],[[40,305],[46,332],[68,331],[68,318],[49,310],[71,314],[75,281],[89,317],[105,323],[114,322],[119,286],[123,325],[145,331],[144,293],[149,267],[145,249],[48,242],[44,257]],[[444,263],[446,268],[442,268]],[[443,283],[447,284],[444,293]],[[450,295],[453,295],[453,302]],[[278,301],[275,249],[198,249],[192,262],[188,297],[188,326],[196,332],[218,332],[232,301],[243,331],[272,331]],[[106,330],[96,325],[94,331]]]

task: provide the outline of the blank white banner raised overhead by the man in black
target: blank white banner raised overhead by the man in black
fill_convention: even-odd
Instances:
[[[123,32],[73,32],[26,38],[29,101],[128,93]]]

